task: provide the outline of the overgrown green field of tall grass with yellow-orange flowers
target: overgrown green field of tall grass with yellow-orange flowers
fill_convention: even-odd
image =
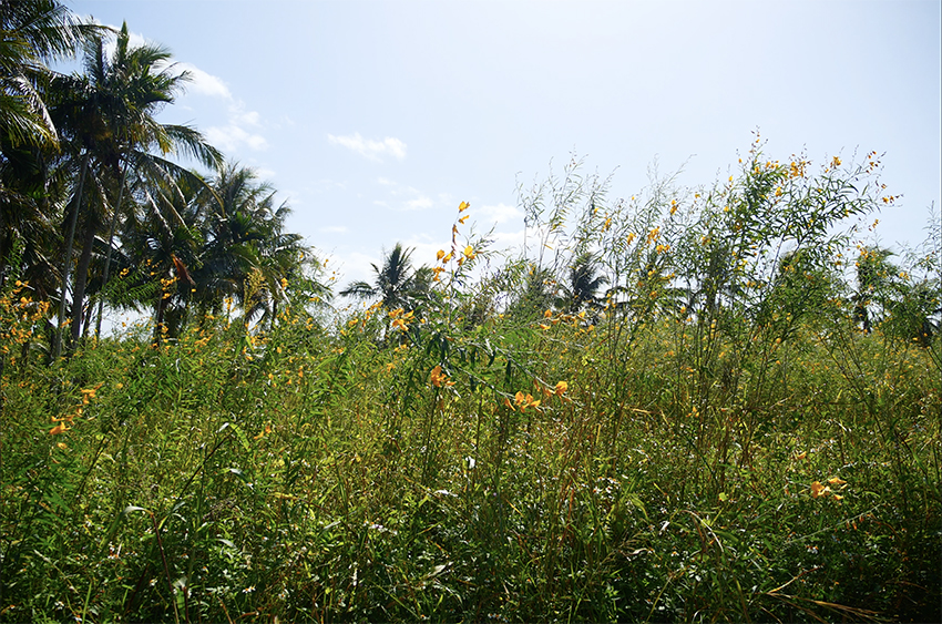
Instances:
[[[0,620],[938,621],[940,341],[863,333],[810,269],[661,305],[668,225],[603,311],[479,314],[473,246],[395,326],[8,348]]]

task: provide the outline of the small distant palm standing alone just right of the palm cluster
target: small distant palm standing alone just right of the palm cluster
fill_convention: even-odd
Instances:
[[[397,243],[386,254],[382,267],[371,265],[376,274],[373,284],[354,282],[347,288],[340,290],[340,295],[358,299],[380,298],[383,307],[388,310],[403,308],[408,311],[416,309],[428,295],[431,269],[428,267],[413,269],[411,256],[412,249],[403,248],[402,243]]]

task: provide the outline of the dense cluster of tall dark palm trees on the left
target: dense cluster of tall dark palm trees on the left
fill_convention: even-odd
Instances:
[[[81,71],[50,69],[75,58]],[[14,277],[51,304],[53,361],[101,334],[106,306],[152,309],[160,341],[226,300],[270,323],[288,283],[318,290],[275,188],[197,129],[157,121],[190,79],[126,23],[0,2],[0,289]]]

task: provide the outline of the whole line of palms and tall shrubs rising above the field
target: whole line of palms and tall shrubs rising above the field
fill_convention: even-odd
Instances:
[[[151,310],[160,344],[232,305],[272,326],[291,296],[329,298],[275,188],[197,129],[157,121],[190,80],[167,49],[132,47],[126,24],[84,23],[55,0],[0,2],[0,291],[13,277],[44,303],[50,361],[100,336],[105,307]],[[50,69],[75,57],[81,71]],[[793,327],[840,299],[864,333],[889,321],[928,346],[940,325],[938,245],[907,266],[876,245],[858,244],[856,259],[841,253],[841,224],[894,200],[876,152],[812,175],[797,156],[765,161],[757,139],[740,164],[713,187],[680,192],[668,178],[610,201],[610,180],[573,161],[563,178],[521,188],[526,239],[505,263],[489,259],[472,278],[469,267],[491,257],[488,235],[469,238],[464,255],[453,237],[434,267],[413,267],[397,243],[372,283],[339,294],[416,317],[461,307],[465,324],[553,308],[607,323],[620,340],[658,314]]]

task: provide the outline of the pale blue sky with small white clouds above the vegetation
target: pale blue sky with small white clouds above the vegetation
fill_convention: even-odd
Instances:
[[[756,132],[770,160],[877,151],[902,195],[877,215],[888,246],[923,242],[942,198],[938,0],[68,6],[173,52],[193,80],[157,119],[270,182],[341,286],[398,242],[432,264],[462,201],[519,245],[519,188],[574,156],[616,198],[654,163],[725,180]]]

